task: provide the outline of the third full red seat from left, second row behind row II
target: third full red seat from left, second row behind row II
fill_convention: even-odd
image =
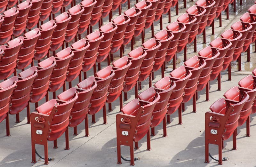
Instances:
[[[57,25],[54,20],[50,20],[39,27],[41,36],[39,36],[39,39],[36,43],[36,49],[34,53],[35,60],[41,60],[47,53],[49,55],[48,51],[50,49],[50,44],[52,43],[52,33],[56,26]]]

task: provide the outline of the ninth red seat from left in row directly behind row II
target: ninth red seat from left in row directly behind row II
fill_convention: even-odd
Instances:
[[[141,14],[140,9],[136,9],[134,7],[128,9],[127,11],[124,12],[124,15],[130,18],[130,21],[125,28],[125,33],[124,33],[124,43],[123,45],[127,45],[131,41],[131,50],[133,50],[133,35],[135,31],[135,26],[136,22]],[[124,48],[123,48],[124,49]]]

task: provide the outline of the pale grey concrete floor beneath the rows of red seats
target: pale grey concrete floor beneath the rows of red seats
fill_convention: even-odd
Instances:
[[[187,8],[192,6],[194,2],[187,2]],[[237,0],[237,3],[238,0]],[[219,27],[219,20],[215,19],[215,35],[211,35],[211,27],[207,27],[206,31],[206,44],[202,44],[202,35],[197,36],[197,51],[200,51],[209,43],[220,36],[220,34],[230,28],[230,26],[239,20],[239,17],[247,11],[247,9],[253,4],[252,0],[243,0],[243,6],[236,6],[236,13],[233,12],[233,6],[229,5],[230,16],[229,20],[226,20],[226,13],[222,12],[222,27]],[[126,4],[125,4],[126,5]],[[123,12],[127,9],[123,5]],[[131,6],[134,5],[132,2]],[[126,9],[125,9],[126,8]],[[68,8],[67,8],[68,9]],[[184,13],[183,2],[179,3],[179,15]],[[115,18],[118,12],[114,13]],[[176,20],[178,16],[175,16],[175,9],[172,9],[172,21]],[[107,23],[108,18],[104,19],[104,23]],[[168,16],[163,16],[163,28],[168,23]],[[159,22],[155,22],[155,34],[159,31]],[[98,28],[98,25],[93,27],[94,30]],[[86,36],[86,34],[84,35]],[[146,30],[146,39],[151,37],[151,30]],[[140,37],[136,37],[135,47],[141,45]],[[71,43],[72,44],[72,43]],[[167,124],[167,138],[163,138],[162,123],[156,127],[156,136],[151,137],[151,151],[147,151],[146,137],[139,142],[139,149],[134,150],[135,156],[140,157],[140,161],[136,161],[136,166],[216,166],[217,162],[211,160],[209,164],[204,163],[204,113],[209,111],[210,105],[217,99],[223,97],[225,91],[232,86],[236,86],[238,81],[248,74],[251,74],[252,69],[256,68],[256,53],[254,50],[254,44],[251,45],[251,62],[246,62],[247,53],[242,53],[242,71],[238,72],[238,66],[236,62],[232,62],[232,81],[228,81],[227,71],[221,73],[221,91],[217,91],[217,81],[210,82],[210,101],[205,100],[205,90],[198,93],[199,99],[196,102],[197,112],[192,113],[192,100],[186,103],[186,111],[182,113],[183,124],[178,125],[178,112],[171,115],[171,123]],[[125,53],[130,52],[130,45],[125,46]],[[194,45],[188,45],[188,55],[190,58],[196,55],[194,53]],[[183,64],[183,52],[179,53],[177,61],[177,67]],[[119,57],[119,52],[114,54],[114,60]],[[106,66],[106,61],[102,63],[102,67]],[[172,70],[172,62],[167,63],[167,70]],[[169,75],[170,71],[165,71],[165,76]],[[87,76],[92,76],[92,69],[87,73]],[[155,72],[155,78],[153,83],[158,81],[161,77],[161,71]],[[72,82],[72,85],[76,85],[78,80]],[[148,81],[142,83],[142,90],[148,88]],[[57,95],[62,90],[57,91]],[[140,92],[141,92],[140,91]],[[50,99],[52,94],[50,93]],[[134,90],[128,93],[128,100],[124,101],[124,105],[134,99]],[[44,103],[45,99],[39,102]],[[35,109],[34,104],[30,104],[31,111]],[[108,106],[107,106],[108,107]],[[59,148],[53,149],[53,142],[48,142],[49,156],[54,157],[54,161],[50,161],[47,166],[129,166],[129,162],[122,161],[123,164],[117,165],[116,155],[116,114],[119,112],[119,101],[116,100],[112,104],[113,111],[107,113],[108,124],[103,123],[102,110],[96,114],[96,123],[92,124],[89,121],[89,137],[84,137],[84,123],[78,126],[78,135],[73,136],[72,128],[69,128],[69,144],[70,150],[64,150],[65,136],[62,135],[58,139]],[[228,157],[228,162],[223,162],[225,166],[256,166],[255,150],[256,149],[256,122],[254,118],[256,115],[251,116],[251,137],[245,137],[246,128],[245,125],[238,127],[237,135],[237,150],[232,150],[232,138],[225,141],[225,148],[222,150],[223,156]],[[31,137],[30,137],[30,124],[27,123],[26,111],[20,112],[20,123],[15,123],[15,115],[10,115],[10,127],[11,136],[5,136],[5,120],[0,123],[0,165],[1,166],[46,166],[44,162],[31,163]],[[91,115],[89,115],[91,120]],[[36,150],[39,154],[44,156],[44,150],[42,146],[37,145]],[[122,147],[122,155],[124,157],[130,157],[129,148]],[[218,147],[215,145],[210,146],[210,152],[214,157],[218,156]],[[38,157],[37,157],[38,160]]]

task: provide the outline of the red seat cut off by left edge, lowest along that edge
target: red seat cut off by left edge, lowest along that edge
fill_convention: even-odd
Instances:
[[[0,122],[5,119],[6,136],[11,136],[9,126],[9,106],[12,97],[12,92],[16,87],[15,82],[11,82],[11,78],[0,83]]]

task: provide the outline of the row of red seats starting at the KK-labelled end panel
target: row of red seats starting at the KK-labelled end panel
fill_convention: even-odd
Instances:
[[[246,136],[250,136],[250,115],[255,110],[255,71],[224,93],[224,98],[215,101],[205,113],[205,162],[209,163],[209,144],[219,147],[219,164],[222,164],[223,141],[233,135],[233,149],[236,150],[237,127],[246,122]]]

